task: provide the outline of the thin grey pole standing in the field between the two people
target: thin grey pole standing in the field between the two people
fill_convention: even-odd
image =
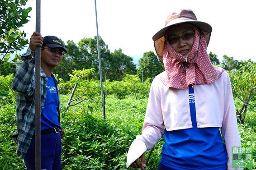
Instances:
[[[94,2],[95,2],[95,16],[96,16],[96,28],[97,28],[97,46],[98,46],[99,69],[100,69],[100,87],[101,87],[101,98],[102,98],[102,110],[103,110],[103,117],[105,119],[106,116],[105,116],[105,105],[104,105],[102,75],[101,75],[100,41],[99,41],[99,33],[98,33],[98,19],[97,19],[96,0],[94,0]]]

